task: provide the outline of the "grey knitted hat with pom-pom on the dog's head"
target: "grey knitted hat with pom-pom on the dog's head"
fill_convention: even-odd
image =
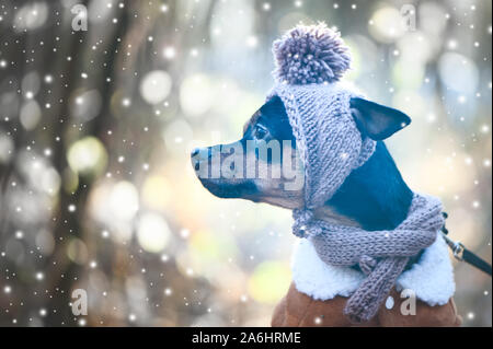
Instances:
[[[351,114],[351,98],[360,95],[339,82],[351,57],[337,33],[325,24],[299,25],[274,42],[273,51],[276,83],[268,97],[283,101],[305,166],[305,209],[294,233],[316,235],[307,230],[312,211],[371,156],[376,142],[363,139]]]

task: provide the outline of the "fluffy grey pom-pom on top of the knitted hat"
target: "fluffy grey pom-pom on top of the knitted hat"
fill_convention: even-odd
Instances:
[[[349,49],[339,33],[298,25],[274,42],[275,78],[289,84],[334,82],[351,67]]]

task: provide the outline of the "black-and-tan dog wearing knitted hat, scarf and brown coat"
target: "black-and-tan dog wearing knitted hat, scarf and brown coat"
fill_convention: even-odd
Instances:
[[[385,144],[409,116],[340,82],[349,49],[324,23],[273,53],[275,85],[243,137],[192,151],[213,195],[293,210],[301,239],[272,325],[460,325],[442,203],[409,188]]]

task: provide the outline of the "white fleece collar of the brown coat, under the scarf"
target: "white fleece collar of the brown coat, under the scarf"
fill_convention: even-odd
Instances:
[[[322,301],[336,295],[349,296],[365,279],[360,271],[323,263],[307,239],[299,240],[296,245],[291,271],[299,292]],[[420,261],[398,278],[395,288],[398,291],[413,290],[417,299],[432,306],[449,301],[456,290],[454,269],[447,245],[439,234]]]

